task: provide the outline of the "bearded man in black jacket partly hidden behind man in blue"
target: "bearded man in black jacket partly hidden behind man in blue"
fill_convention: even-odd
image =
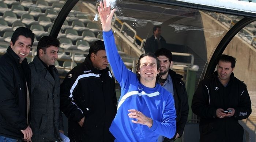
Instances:
[[[158,138],[158,142],[173,142],[176,138],[180,138],[183,134],[185,124],[188,119],[188,95],[184,82],[181,80],[183,76],[177,74],[170,69],[172,66],[172,52],[165,48],[158,49],[155,52],[160,62],[160,84],[163,88],[174,94],[174,102],[176,109],[176,134],[173,138],[169,139],[163,136]]]

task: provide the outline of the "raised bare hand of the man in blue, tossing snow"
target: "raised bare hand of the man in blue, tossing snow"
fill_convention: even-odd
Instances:
[[[106,0],[104,0],[103,3],[104,5],[101,1],[99,3],[100,6],[98,6],[99,18],[101,19],[102,23],[102,30],[104,32],[108,32],[111,30],[111,20],[116,9],[111,10],[110,6],[107,7]]]

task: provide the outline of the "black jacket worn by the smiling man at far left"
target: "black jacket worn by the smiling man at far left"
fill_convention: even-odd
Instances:
[[[20,130],[27,128],[27,89],[30,86],[30,69],[25,58],[20,58],[9,47],[0,58],[0,135],[22,139]]]

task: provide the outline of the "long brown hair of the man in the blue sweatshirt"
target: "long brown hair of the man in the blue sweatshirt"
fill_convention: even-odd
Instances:
[[[138,62],[136,63],[136,75],[137,75],[137,78],[139,81],[140,81],[140,74],[138,72],[140,71],[140,60],[141,60],[141,58],[146,57],[146,56],[155,58],[155,60],[157,60],[157,70],[160,70],[160,62],[159,62],[158,58],[153,53],[141,54]],[[161,78],[162,78],[162,76],[157,74],[157,79],[155,80],[155,82],[158,82],[159,79],[161,79]]]

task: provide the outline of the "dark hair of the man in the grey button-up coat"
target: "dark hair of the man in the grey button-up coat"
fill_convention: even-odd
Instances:
[[[43,49],[44,52],[46,48],[50,46],[60,47],[60,41],[57,40],[55,37],[52,36],[43,36],[37,44],[37,56],[39,57],[39,50]]]

